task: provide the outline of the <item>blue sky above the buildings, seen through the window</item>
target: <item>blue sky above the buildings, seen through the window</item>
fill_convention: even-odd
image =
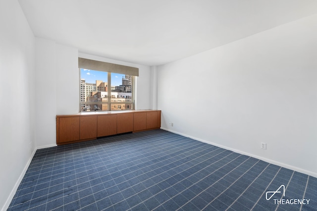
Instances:
[[[111,73],[111,85],[121,85],[122,76],[124,74]],[[85,79],[86,83],[96,84],[96,80],[101,80],[103,82],[108,82],[107,72],[80,69],[80,78]]]

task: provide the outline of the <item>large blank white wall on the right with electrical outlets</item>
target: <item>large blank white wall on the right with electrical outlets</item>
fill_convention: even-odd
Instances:
[[[314,15],[159,66],[162,127],[317,176],[316,38]]]

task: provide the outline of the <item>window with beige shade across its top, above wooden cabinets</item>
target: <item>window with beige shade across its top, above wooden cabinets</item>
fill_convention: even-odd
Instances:
[[[78,58],[81,111],[134,109],[134,81],[139,68]]]

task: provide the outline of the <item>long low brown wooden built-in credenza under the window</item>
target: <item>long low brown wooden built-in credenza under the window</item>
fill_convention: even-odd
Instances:
[[[159,110],[92,112],[56,116],[56,143],[69,144],[125,132],[160,128]]]

